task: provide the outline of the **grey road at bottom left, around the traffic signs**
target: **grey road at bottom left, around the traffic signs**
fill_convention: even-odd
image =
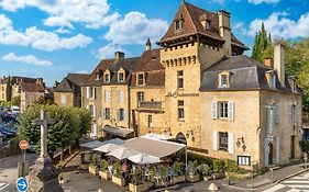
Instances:
[[[26,154],[26,160],[33,165],[37,159],[35,154]],[[23,160],[23,154],[7,157],[0,160],[0,191],[15,192],[15,182],[18,179],[18,162]]]

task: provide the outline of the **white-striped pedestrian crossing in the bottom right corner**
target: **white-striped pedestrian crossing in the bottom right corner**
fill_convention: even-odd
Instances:
[[[309,173],[293,177],[263,192],[309,192]]]

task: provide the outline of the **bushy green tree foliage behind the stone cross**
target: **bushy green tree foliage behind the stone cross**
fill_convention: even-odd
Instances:
[[[19,128],[21,137],[33,143],[37,149],[40,148],[40,125],[34,125],[32,121],[40,118],[41,109],[46,110],[48,117],[54,120],[47,126],[48,154],[76,144],[78,138],[90,128],[91,115],[85,109],[35,104],[22,114]]]

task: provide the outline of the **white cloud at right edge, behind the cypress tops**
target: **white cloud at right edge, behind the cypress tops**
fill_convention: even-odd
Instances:
[[[251,22],[249,35],[254,36],[255,32],[261,29],[264,22],[267,32],[273,37],[297,38],[309,36],[309,12],[302,14],[298,20],[294,21],[287,18],[286,12],[274,12],[267,19],[256,19]]]

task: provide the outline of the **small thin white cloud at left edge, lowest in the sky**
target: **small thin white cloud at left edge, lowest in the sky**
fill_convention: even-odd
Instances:
[[[40,60],[33,55],[16,56],[14,53],[9,53],[1,57],[4,61],[18,61],[23,64],[31,64],[34,66],[52,66],[53,64],[48,60]]]

